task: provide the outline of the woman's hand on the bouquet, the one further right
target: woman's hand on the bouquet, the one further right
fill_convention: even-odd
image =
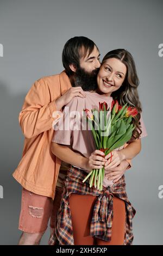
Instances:
[[[112,154],[112,157],[111,157]],[[121,151],[111,151],[108,155],[105,156],[105,160],[107,160],[104,164],[105,170],[112,170],[124,160],[124,155]]]

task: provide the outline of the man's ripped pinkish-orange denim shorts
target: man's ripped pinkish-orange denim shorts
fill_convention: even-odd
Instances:
[[[55,219],[60,207],[62,188],[56,187],[54,201],[51,197],[40,196],[22,189],[22,202],[18,229],[27,233],[42,233],[50,227],[55,227]]]

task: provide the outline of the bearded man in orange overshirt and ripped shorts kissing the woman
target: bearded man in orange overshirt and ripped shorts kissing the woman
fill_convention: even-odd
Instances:
[[[61,111],[73,97],[84,97],[84,90],[96,88],[100,61],[99,50],[92,40],[84,36],[68,40],[62,52],[62,62],[65,71],[61,74],[35,81],[19,115],[25,141],[22,159],[13,174],[23,187],[18,225],[23,233],[18,245],[39,245],[50,217],[51,234],[54,231],[64,165],[61,166],[61,160],[51,152],[53,123],[59,120],[57,111]],[[125,160],[119,168],[126,170],[128,166]],[[60,189],[55,194],[56,185]]]

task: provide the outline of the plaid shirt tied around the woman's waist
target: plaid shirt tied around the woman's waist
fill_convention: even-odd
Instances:
[[[118,197],[126,203],[126,225],[123,245],[133,244],[132,219],[136,214],[127,198],[126,183],[124,175],[112,187],[103,191],[95,187],[89,187],[89,180],[83,183],[87,173],[72,167],[67,171],[64,182],[60,209],[55,223],[55,231],[49,240],[49,245],[74,245],[72,219],[68,197],[71,193],[96,196],[97,200],[93,206],[93,214],[90,227],[90,236],[95,236],[104,241],[111,240],[111,227],[113,219],[113,197]],[[117,234],[118,235],[118,234]]]

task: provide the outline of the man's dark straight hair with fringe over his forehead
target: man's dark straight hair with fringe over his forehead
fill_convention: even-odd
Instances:
[[[80,58],[85,57],[87,52],[90,55],[95,46],[95,42],[85,36],[74,36],[66,42],[62,51],[62,63],[68,76],[73,74],[69,65],[74,64],[78,69]]]

